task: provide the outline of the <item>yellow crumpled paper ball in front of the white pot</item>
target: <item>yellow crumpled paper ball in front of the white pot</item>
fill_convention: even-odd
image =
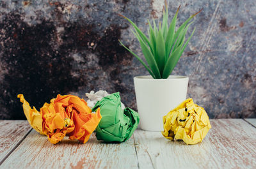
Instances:
[[[187,144],[202,142],[211,124],[204,108],[189,98],[163,117],[165,138],[183,140]]]

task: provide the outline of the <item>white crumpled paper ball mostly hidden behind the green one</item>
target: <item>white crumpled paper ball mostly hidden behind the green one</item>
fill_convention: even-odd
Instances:
[[[109,96],[110,94],[107,91],[100,90],[97,92],[94,92],[94,91],[90,91],[90,93],[86,92],[85,95],[88,98],[88,100],[86,101],[88,107],[93,108],[95,106],[95,104],[97,103],[97,101],[100,101],[100,99],[102,99],[106,96]],[[122,102],[121,102],[121,107],[122,107],[122,110],[125,109],[125,105]]]

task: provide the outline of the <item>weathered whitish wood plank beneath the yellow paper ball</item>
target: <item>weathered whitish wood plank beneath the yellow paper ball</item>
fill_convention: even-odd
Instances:
[[[256,129],[242,119],[211,120],[202,143],[186,145],[161,133],[134,133],[140,168],[256,168]]]

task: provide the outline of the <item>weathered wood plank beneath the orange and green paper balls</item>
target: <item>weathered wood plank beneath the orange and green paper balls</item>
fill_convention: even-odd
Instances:
[[[95,133],[85,144],[65,138],[52,145],[31,131],[3,163],[3,168],[138,168],[134,138],[124,143],[99,142]]]

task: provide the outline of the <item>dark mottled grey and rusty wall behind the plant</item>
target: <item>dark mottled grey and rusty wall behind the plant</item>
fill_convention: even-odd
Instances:
[[[147,31],[163,0],[0,1],[0,119],[24,119],[17,94],[42,107],[60,94],[120,91],[136,109],[133,77],[148,75],[131,18]],[[256,117],[256,3],[253,0],[170,1],[178,24],[200,8],[196,32],[172,75],[189,77],[188,96],[211,118]],[[189,30],[191,33],[191,30]]]

